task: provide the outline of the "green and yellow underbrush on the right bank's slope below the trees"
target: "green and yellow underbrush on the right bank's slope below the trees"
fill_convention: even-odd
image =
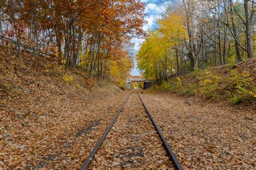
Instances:
[[[253,60],[255,63],[256,60]],[[222,66],[194,71],[189,76],[162,81],[159,90],[207,100],[226,100],[231,104],[251,104],[256,99],[256,67]]]

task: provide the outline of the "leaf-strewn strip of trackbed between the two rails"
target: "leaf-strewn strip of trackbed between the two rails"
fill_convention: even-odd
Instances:
[[[138,94],[127,101],[90,168],[172,168]]]

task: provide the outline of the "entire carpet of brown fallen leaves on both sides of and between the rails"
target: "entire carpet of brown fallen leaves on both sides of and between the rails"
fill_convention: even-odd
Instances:
[[[129,95],[79,70],[44,72],[0,53],[0,169],[80,168]],[[62,76],[70,75],[71,84]],[[77,86],[80,83],[81,86]],[[256,113],[197,97],[142,97],[184,168],[256,168]],[[129,147],[129,148],[128,148]],[[133,95],[97,153],[97,167],[172,167]]]

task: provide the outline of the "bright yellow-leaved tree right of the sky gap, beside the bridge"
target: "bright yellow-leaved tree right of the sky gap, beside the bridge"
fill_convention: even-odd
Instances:
[[[158,21],[159,29],[150,31],[137,54],[138,68],[147,79],[167,79],[177,72],[179,43],[186,38],[184,18],[169,12]]]

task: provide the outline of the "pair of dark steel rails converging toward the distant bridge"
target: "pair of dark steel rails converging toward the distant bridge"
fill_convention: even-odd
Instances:
[[[115,121],[117,120],[118,116],[120,115],[120,113],[122,113],[122,111],[125,108],[125,105],[127,103],[127,101],[129,100],[129,98],[131,97],[131,95],[133,95],[134,93],[131,93],[124,101],[123,105],[121,106],[121,108],[119,109],[119,111],[117,112],[117,114],[114,116],[113,120],[111,121],[110,125],[107,127],[106,131],[104,132],[104,134],[102,135],[102,137],[99,139],[99,141],[97,142],[96,146],[92,149],[91,153],[89,154],[89,156],[87,157],[87,159],[85,160],[84,164],[82,165],[82,167],[80,168],[82,169],[87,169],[89,168],[90,164],[92,163],[93,159],[95,158],[95,155],[98,151],[98,149],[100,148],[100,146],[103,144],[104,139],[106,138],[107,134],[109,133],[109,131],[111,130],[111,127],[114,125]],[[145,111],[148,115],[148,117],[150,118],[150,120],[152,121],[152,124],[154,126],[154,129],[157,131],[158,136],[160,137],[163,146],[165,148],[166,153],[169,155],[170,161],[172,162],[173,166],[176,169],[183,169],[181,167],[181,165],[179,164],[178,159],[175,157],[171,147],[169,146],[169,144],[167,143],[166,139],[164,138],[164,135],[161,133],[160,128],[158,127],[158,125],[156,124],[156,121],[154,121],[152,114],[150,113],[149,109],[146,107],[144,101],[142,100],[142,98],[140,97],[140,94],[138,94],[138,97],[140,99],[140,101],[142,102],[143,107],[145,108]],[[133,122],[133,121],[131,121]],[[140,123],[139,123],[140,124]],[[143,124],[143,123],[142,123]],[[131,154],[132,155],[132,154]],[[134,154],[133,154],[134,155]],[[138,154],[139,155],[139,154]]]

